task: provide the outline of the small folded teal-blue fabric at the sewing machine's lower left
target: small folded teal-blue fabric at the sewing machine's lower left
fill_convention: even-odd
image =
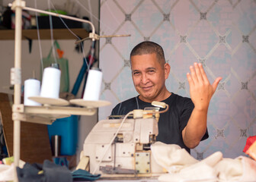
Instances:
[[[78,169],[72,172],[73,181],[98,180],[101,174],[91,174],[88,171]]]

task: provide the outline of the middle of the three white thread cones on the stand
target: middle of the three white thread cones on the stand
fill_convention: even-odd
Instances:
[[[43,70],[41,97],[59,99],[60,70],[54,67],[46,67]]]

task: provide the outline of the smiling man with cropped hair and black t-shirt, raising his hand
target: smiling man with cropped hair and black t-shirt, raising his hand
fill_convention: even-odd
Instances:
[[[130,53],[133,84],[139,96],[119,103],[111,115],[126,115],[134,109],[152,107],[152,101],[169,105],[169,110],[160,115],[156,140],[178,144],[190,152],[200,140],[208,138],[206,120],[210,99],[221,77],[210,84],[202,64],[194,63],[187,73],[190,98],[170,93],[165,80],[170,73],[170,65],[165,63],[165,55],[155,42],[141,42]]]

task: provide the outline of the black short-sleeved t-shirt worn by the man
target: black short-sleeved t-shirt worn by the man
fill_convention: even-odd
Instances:
[[[187,121],[194,109],[194,103],[191,99],[174,93],[171,93],[171,96],[162,102],[168,104],[169,109],[167,112],[160,114],[156,140],[167,144],[177,144],[190,152],[190,149],[185,146],[182,140],[181,132],[187,126]],[[144,109],[146,107],[153,107],[153,105],[150,102],[143,102],[139,99],[139,96],[136,96],[116,105],[111,115],[126,115],[134,109]],[[208,131],[206,130],[202,140],[206,140],[208,137]]]

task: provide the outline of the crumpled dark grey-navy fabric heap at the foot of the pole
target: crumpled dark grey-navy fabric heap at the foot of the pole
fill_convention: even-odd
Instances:
[[[24,168],[16,168],[19,182],[72,182],[72,174],[66,166],[56,165],[45,160],[42,165],[26,163]],[[43,173],[38,174],[43,170]]]

